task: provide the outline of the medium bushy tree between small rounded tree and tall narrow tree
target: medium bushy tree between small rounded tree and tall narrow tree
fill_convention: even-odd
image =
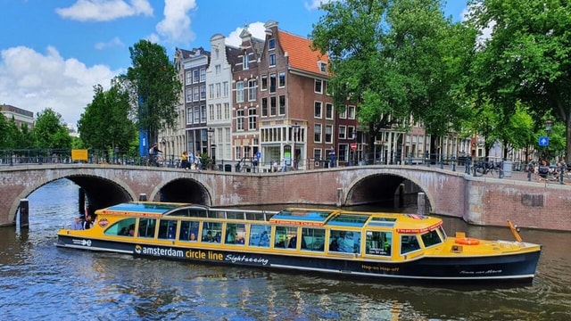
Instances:
[[[129,119],[128,93],[113,84],[104,91],[94,86],[93,101],[81,114],[78,130],[83,144],[99,150],[128,151],[129,144],[137,136],[137,128]]]

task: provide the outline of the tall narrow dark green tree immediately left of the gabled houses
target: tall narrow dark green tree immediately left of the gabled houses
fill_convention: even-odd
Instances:
[[[140,40],[129,52],[132,66],[123,84],[136,99],[138,128],[146,131],[149,143],[156,142],[160,130],[176,126],[182,84],[161,45]]]

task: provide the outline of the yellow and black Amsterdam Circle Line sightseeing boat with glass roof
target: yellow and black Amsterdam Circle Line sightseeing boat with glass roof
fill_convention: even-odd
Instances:
[[[448,236],[417,214],[290,208],[240,210],[127,202],[95,211],[87,230],[62,228],[58,247],[373,279],[531,281],[541,245]]]

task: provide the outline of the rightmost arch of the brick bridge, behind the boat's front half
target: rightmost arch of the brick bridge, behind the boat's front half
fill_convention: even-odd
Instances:
[[[393,200],[402,183],[405,184],[403,191],[405,194],[425,193],[428,208],[433,208],[434,195],[422,180],[416,176],[407,175],[402,170],[392,169],[380,169],[355,177],[347,186],[343,202],[346,205],[359,205]]]

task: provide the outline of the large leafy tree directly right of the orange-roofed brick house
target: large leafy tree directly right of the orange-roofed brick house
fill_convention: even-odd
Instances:
[[[436,136],[466,117],[457,82],[475,32],[446,19],[442,8],[438,0],[322,4],[326,13],[310,37],[329,57],[335,108],[343,111],[347,97],[358,105],[369,145],[383,128],[407,130],[411,116]]]

